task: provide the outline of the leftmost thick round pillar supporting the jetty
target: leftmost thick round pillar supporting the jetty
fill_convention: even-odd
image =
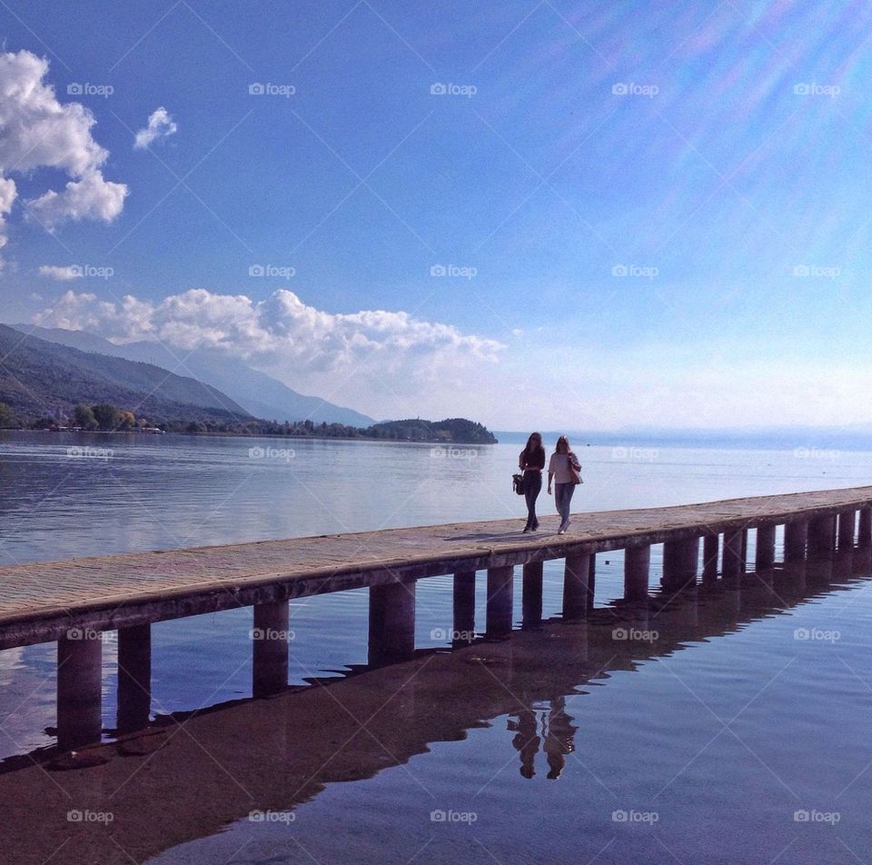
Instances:
[[[72,629],[57,641],[57,747],[74,751],[103,732],[103,639]]]

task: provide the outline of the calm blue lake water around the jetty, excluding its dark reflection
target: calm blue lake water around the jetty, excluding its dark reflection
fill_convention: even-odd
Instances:
[[[782,451],[575,447],[585,479],[576,511],[872,478],[870,452],[795,451],[793,442]],[[0,433],[0,564],[512,515],[520,530],[522,500],[510,492],[519,450]],[[540,507],[552,508],[544,492]],[[653,565],[652,585],[657,548]],[[546,617],[560,613],[561,566],[546,563]],[[465,741],[434,742],[370,779],[330,784],[292,822],[241,820],[154,861],[866,860],[868,585],[833,579],[791,604],[776,593],[765,612],[737,614],[718,635],[695,639],[691,628],[675,651],[579,690],[570,683],[562,702],[532,701],[471,724]],[[620,553],[600,554],[598,605],[621,588]],[[478,591],[481,629],[481,575]],[[519,619],[520,584],[515,597]],[[292,682],[366,662],[365,591],[294,602],[291,615]],[[450,577],[421,581],[417,616],[417,644],[447,646]],[[227,611],[154,625],[153,711],[250,696],[250,618]],[[108,731],[111,642],[104,659]],[[54,647],[0,652],[0,685],[0,757],[51,744]],[[570,743],[559,778],[548,777],[549,730]],[[536,735],[540,747],[519,746],[519,736]],[[433,822],[434,809],[475,819]]]

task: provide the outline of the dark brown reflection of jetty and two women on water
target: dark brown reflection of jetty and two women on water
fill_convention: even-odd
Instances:
[[[509,716],[516,767],[544,751],[557,778],[574,747],[565,698],[609,671],[738,631],[863,582],[832,564],[748,574],[677,596],[598,608],[586,621],[546,621],[503,641],[419,651],[392,666],[315,681],[268,700],[163,718],[148,731],[80,752],[91,765],[54,771],[45,753],[6,761],[4,859],[17,865],[129,863],[213,835],[253,811],[288,811],[328,783],[370,778],[437,741]],[[620,631],[656,631],[654,641]],[[550,735],[536,733],[547,703]],[[74,816],[70,816],[70,815]],[[88,817],[75,815],[90,815]],[[101,817],[102,815],[102,817]],[[111,815],[107,816],[107,815]]]

